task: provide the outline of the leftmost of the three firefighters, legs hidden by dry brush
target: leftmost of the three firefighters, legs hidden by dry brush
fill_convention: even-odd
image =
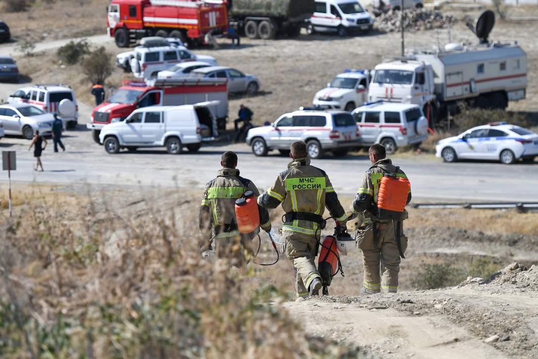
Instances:
[[[202,235],[210,238],[204,243],[202,251],[210,252],[211,243],[218,258],[228,259],[231,266],[245,268],[252,256],[252,238],[259,232],[240,234],[237,229],[235,201],[246,191],[259,195],[258,188],[252,181],[239,176],[237,155],[225,152],[221,158],[222,169],[217,177],[206,185],[200,206],[199,225]],[[271,230],[269,213],[259,208],[260,227]]]

